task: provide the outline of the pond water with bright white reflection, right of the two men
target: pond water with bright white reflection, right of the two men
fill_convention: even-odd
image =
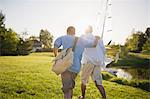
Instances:
[[[150,68],[106,68],[106,71],[119,78],[150,80]]]

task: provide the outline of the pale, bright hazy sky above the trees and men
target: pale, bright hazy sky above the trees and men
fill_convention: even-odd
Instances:
[[[104,31],[104,43],[112,40],[124,44],[133,30],[145,32],[150,27],[150,0],[111,0]],[[39,36],[47,29],[54,39],[66,34],[68,26],[76,28],[76,35],[92,25],[94,35],[101,36],[106,0],[0,0],[7,28],[17,33],[27,31]],[[112,32],[106,32],[112,29]]]

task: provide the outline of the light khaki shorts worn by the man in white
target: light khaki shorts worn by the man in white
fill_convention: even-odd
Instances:
[[[102,85],[102,75],[100,66],[87,63],[83,65],[81,73],[81,82],[86,85],[89,81],[89,76],[96,82],[97,85]]]

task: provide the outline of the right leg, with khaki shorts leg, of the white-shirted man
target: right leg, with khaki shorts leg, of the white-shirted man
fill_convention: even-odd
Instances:
[[[99,66],[95,66],[92,72],[92,79],[95,82],[95,86],[98,88],[99,92],[102,95],[103,99],[106,99],[106,92],[104,87],[102,86],[102,75],[101,68]]]

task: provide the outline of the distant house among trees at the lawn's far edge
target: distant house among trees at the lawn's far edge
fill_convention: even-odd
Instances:
[[[42,42],[38,40],[31,40],[32,41],[32,52],[41,51],[42,50]]]

